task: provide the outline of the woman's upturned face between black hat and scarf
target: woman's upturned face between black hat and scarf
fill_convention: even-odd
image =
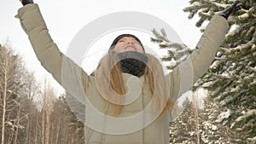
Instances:
[[[138,53],[144,54],[143,47],[133,37],[122,37],[119,39],[118,43],[116,43],[113,50],[116,53],[122,53],[125,51],[137,51]]]

